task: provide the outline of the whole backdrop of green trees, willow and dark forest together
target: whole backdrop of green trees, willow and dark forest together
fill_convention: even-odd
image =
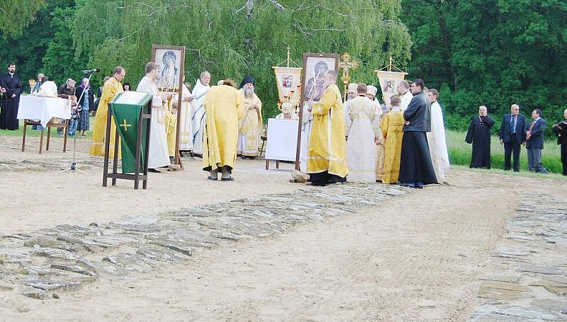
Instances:
[[[451,130],[466,130],[479,105],[497,121],[512,103],[528,117],[539,108],[550,124],[567,108],[564,0],[9,0],[2,10],[0,64],[16,62],[24,86],[40,71],[59,85],[116,65],[135,85],[152,44],[184,45],[188,81],[205,69],[214,82],[252,74],[270,117],[271,67],[290,45],[296,62],[349,52],[353,81],[366,83],[393,56],[439,90]]]

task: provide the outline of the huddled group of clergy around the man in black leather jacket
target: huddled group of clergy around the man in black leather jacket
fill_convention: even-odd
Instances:
[[[311,184],[444,183],[449,156],[437,90],[421,79],[400,81],[387,108],[376,86],[349,84],[343,103],[336,72],[326,71],[324,80],[320,100],[303,110],[301,170]]]

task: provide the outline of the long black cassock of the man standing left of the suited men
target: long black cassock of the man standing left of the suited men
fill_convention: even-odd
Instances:
[[[494,123],[490,116],[476,116],[468,125],[465,141],[473,144],[471,168],[490,168],[490,127]]]

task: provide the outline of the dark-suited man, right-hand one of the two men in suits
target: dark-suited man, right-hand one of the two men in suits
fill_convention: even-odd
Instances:
[[[541,118],[541,110],[532,112],[532,122],[526,132],[527,168],[529,171],[541,172],[541,150],[544,149],[544,131],[547,123]]]

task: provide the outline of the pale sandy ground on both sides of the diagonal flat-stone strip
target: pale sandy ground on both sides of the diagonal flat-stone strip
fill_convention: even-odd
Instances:
[[[0,234],[301,187],[283,171],[266,173],[261,161],[238,164],[230,185],[205,180],[191,163],[152,176],[147,191],[130,183],[102,188],[101,171],[4,172]],[[0,321],[466,321],[519,193],[567,188],[456,170],[448,181],[278,238],[203,251],[183,265],[99,280],[57,300],[0,292]]]

